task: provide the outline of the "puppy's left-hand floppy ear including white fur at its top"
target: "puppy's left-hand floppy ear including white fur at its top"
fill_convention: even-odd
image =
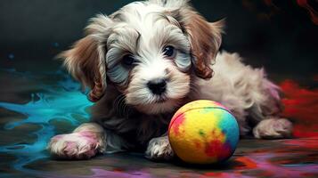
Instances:
[[[106,88],[104,41],[109,23],[110,19],[103,15],[93,18],[86,28],[86,36],[58,56],[64,59],[64,66],[73,77],[91,88],[90,101],[99,101]]]

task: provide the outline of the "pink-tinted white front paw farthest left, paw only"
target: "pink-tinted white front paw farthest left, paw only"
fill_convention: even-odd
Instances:
[[[55,158],[87,159],[94,157],[101,145],[95,134],[80,132],[54,136],[47,150]]]

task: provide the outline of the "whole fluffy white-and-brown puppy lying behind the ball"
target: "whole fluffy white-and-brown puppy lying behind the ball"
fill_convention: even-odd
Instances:
[[[173,158],[169,120],[183,104],[200,99],[231,109],[241,136],[290,137],[291,123],[279,117],[280,88],[238,54],[218,53],[222,27],[187,0],[135,2],[97,15],[86,36],[61,53],[70,74],[91,88],[92,122],[54,136],[48,150],[57,158],[120,150]]]

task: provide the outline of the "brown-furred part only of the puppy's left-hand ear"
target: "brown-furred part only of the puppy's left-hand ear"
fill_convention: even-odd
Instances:
[[[70,50],[59,55],[64,59],[64,66],[69,73],[83,86],[92,89],[88,94],[90,101],[101,99],[106,87],[106,78],[102,77],[105,67],[100,55],[98,43],[93,36],[86,36],[78,40]]]

